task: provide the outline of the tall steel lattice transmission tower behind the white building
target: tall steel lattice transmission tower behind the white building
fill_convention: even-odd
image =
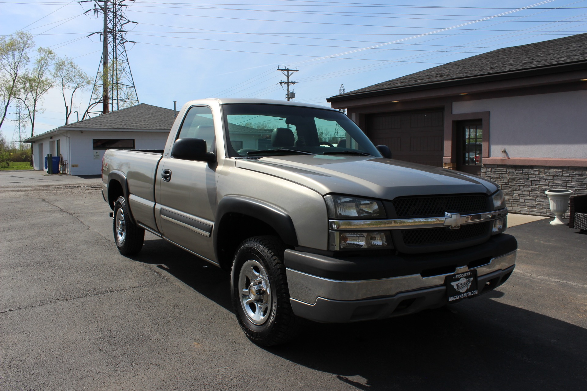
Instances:
[[[137,89],[134,86],[133,74],[130,72],[129,57],[126,55],[125,25],[131,22],[124,16],[128,4],[134,0],[93,0],[94,15],[102,13],[104,27],[97,34],[102,41],[102,59],[98,66],[96,79],[90,96],[90,104],[86,115],[106,114],[110,111],[139,104]],[[90,10],[91,11],[91,10]]]

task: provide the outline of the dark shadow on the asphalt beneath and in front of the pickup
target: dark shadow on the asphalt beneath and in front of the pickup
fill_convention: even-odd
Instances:
[[[162,239],[146,240],[136,260],[156,264],[232,311],[230,281],[220,268]],[[308,321],[290,344],[263,350],[329,373],[341,389],[584,389],[587,329],[492,300],[503,296],[498,288],[447,308],[382,321]],[[266,353],[255,355],[262,360]]]

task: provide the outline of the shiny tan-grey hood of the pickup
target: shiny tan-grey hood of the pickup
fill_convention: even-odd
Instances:
[[[299,183],[321,195],[340,193],[394,199],[456,193],[490,195],[498,189],[495,183],[476,175],[385,158],[288,155],[237,159],[235,164]]]

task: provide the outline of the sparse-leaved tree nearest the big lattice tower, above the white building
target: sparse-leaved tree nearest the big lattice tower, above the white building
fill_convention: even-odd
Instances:
[[[57,58],[52,75],[57,85],[61,87],[63,106],[65,106],[65,124],[67,125],[69,124],[69,116],[73,112],[73,95],[77,90],[83,90],[92,84],[92,79],[68,56]]]

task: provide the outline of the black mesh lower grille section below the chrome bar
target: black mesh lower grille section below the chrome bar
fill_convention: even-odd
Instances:
[[[404,229],[402,230],[402,239],[406,246],[478,239],[481,236],[488,235],[491,224],[491,222],[470,224],[461,226],[459,229],[450,229],[449,227]]]

